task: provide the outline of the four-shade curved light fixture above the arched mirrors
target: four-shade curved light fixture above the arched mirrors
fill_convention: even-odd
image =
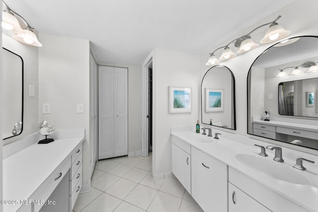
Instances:
[[[279,18],[281,18],[280,15],[275,20],[256,27],[255,29],[250,31],[247,35],[236,38],[235,40],[231,41],[228,45],[217,48],[214,52],[210,53],[210,58],[205,65],[214,66],[214,65],[219,64],[220,61],[225,61],[225,60],[229,60],[229,59],[236,57],[236,54],[229,47],[230,44],[232,44],[232,43],[235,44],[235,47],[239,48],[239,50],[237,52],[238,54],[242,54],[242,53],[245,53],[245,52],[248,52],[250,50],[257,48],[259,46],[259,44],[254,43],[254,41],[250,38],[250,34],[263,26],[270,24],[270,27],[267,29],[265,36],[262,38],[260,43],[270,43],[270,42],[274,42],[274,41],[277,41],[279,39],[282,39],[282,38],[288,36],[290,34],[290,31],[285,30],[282,26],[280,26],[280,25],[278,25],[278,23],[276,23],[276,21]],[[222,55],[219,59],[217,59],[214,53],[217,50],[222,49],[222,48],[224,48]]]

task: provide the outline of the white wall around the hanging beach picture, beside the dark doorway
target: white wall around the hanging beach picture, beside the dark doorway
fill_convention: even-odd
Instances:
[[[193,125],[199,116],[199,56],[156,48],[153,55],[153,176],[171,173],[170,127]],[[168,86],[192,87],[192,112],[168,113]],[[164,174],[166,174],[164,176]]]

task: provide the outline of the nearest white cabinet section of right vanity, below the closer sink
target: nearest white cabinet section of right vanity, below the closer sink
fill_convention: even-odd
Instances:
[[[234,185],[234,187],[230,185]],[[235,195],[236,197],[234,197],[236,198],[236,204],[233,206],[232,195],[234,189],[236,193],[238,190],[241,190],[242,194],[238,191]],[[252,198],[248,199],[246,196],[245,198],[240,198],[241,195],[248,195]],[[240,204],[240,201],[248,203]],[[251,210],[251,206],[258,210]],[[263,212],[266,211],[265,207],[272,212],[308,212],[296,203],[261,185],[234,168],[229,167],[229,212],[232,212],[232,210],[235,212]]]

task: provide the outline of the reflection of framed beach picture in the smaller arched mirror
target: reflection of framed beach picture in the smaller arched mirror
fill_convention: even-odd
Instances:
[[[205,88],[205,112],[218,112],[224,110],[223,89]]]

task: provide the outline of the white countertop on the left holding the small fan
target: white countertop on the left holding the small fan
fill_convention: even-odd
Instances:
[[[71,156],[80,138],[34,143],[3,159],[3,200],[28,200],[51,173]],[[16,211],[21,205],[3,205],[3,211]]]

